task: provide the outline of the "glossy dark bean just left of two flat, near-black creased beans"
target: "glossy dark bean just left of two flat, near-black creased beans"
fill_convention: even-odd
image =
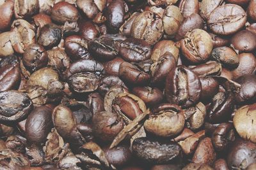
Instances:
[[[68,36],[64,41],[65,52],[71,60],[89,59],[88,44],[80,36]]]

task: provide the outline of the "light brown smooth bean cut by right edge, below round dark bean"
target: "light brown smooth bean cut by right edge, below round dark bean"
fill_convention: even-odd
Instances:
[[[239,65],[232,70],[234,80],[243,76],[244,74],[255,74],[256,71],[256,57],[252,53],[241,53],[238,55]]]

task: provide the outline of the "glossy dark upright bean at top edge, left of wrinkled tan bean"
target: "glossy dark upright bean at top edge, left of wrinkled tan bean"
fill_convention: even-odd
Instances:
[[[109,29],[117,31],[124,22],[125,3],[123,0],[114,0],[106,9],[106,18]]]

